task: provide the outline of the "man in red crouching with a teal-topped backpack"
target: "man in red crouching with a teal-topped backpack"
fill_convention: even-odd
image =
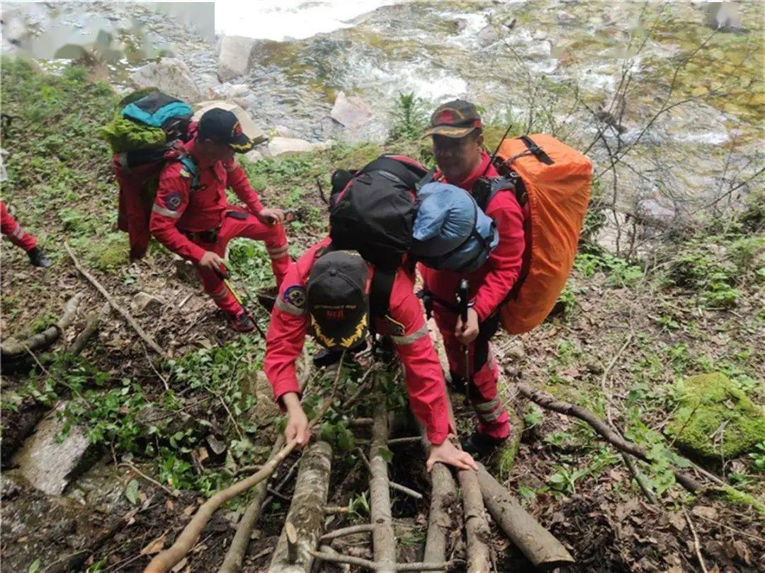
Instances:
[[[265,209],[252,189],[236,152],[252,148],[232,112],[213,108],[205,112],[197,134],[182,144],[194,160],[197,173],[181,161],[168,163],[159,179],[151,209],[151,233],[168,249],[197,266],[202,286],[231,320],[238,332],[255,328],[252,319],[223,283],[223,256],[235,237],[264,241],[277,286],[290,264],[284,212]],[[233,189],[246,208],[226,201],[226,187]]]

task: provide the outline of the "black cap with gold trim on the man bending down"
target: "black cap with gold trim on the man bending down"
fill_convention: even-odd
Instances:
[[[311,267],[306,306],[324,348],[343,349],[366,338],[369,266],[356,251],[330,251]]]

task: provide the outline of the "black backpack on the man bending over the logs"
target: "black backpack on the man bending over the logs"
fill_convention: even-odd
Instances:
[[[412,246],[416,188],[427,173],[400,155],[382,155],[355,173],[335,172],[330,202],[334,248],[359,251],[378,267],[399,266]],[[337,183],[343,184],[341,190]]]

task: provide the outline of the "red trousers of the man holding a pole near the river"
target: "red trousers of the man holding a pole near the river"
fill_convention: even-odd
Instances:
[[[243,213],[246,215],[245,219],[234,219],[229,214],[232,212]],[[218,231],[218,239],[214,243],[206,243],[204,241],[194,241],[201,248],[207,251],[213,251],[220,257],[226,254],[226,245],[229,241],[236,237],[245,237],[252,239],[253,241],[264,241],[265,249],[269,253],[271,259],[271,269],[276,279],[276,286],[282,284],[282,280],[287,274],[287,270],[290,264],[290,257],[287,253],[287,235],[285,235],[285,228],[283,225],[266,225],[260,222],[255,215],[252,215],[245,209],[239,207],[232,207],[226,212],[223,217],[223,224]],[[197,273],[199,273],[202,280],[202,287],[204,292],[209,294],[216,305],[226,312],[226,314],[236,316],[242,311],[242,306],[236,302],[233,295],[226,288],[223,280],[215,274],[212,270],[207,268],[197,267]]]

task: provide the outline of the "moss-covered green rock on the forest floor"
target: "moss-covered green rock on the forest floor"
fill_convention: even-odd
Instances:
[[[667,425],[681,447],[702,458],[736,458],[765,440],[763,407],[756,406],[725,374],[682,381],[683,396]]]

